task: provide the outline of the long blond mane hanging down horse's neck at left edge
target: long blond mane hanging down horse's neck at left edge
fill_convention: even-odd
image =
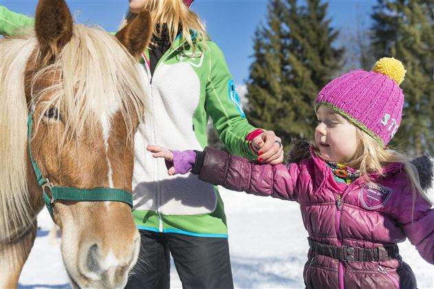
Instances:
[[[24,72],[35,37],[0,40],[0,242],[32,220],[27,186],[27,118]]]

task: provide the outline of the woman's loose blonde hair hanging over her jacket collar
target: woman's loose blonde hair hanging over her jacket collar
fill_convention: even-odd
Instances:
[[[186,41],[193,48],[193,51],[208,38],[205,24],[182,0],[147,0],[143,9],[149,10],[151,13],[154,35],[161,36],[162,29],[157,28],[158,24],[165,23],[167,25],[171,43],[175,41],[180,28],[182,29],[182,41]],[[129,11],[120,28],[123,28],[136,16],[137,14]],[[193,41],[193,39],[195,40]]]

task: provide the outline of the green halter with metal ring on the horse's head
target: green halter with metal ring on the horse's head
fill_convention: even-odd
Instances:
[[[28,138],[29,138],[29,155],[30,161],[32,162],[33,170],[36,175],[38,183],[42,186],[43,198],[45,206],[47,206],[48,211],[54,221],[53,215],[53,204],[56,200],[68,200],[68,201],[85,201],[85,202],[96,202],[96,201],[109,201],[109,202],[124,202],[129,204],[133,208],[133,195],[128,191],[122,189],[113,188],[95,188],[95,189],[78,189],[67,186],[53,186],[53,184],[44,178],[41,169],[39,169],[38,164],[36,164],[33,155],[32,147],[30,142],[32,142],[32,123],[33,123],[33,111],[34,107],[30,110],[28,118]],[[52,197],[45,193],[45,189],[50,189]]]

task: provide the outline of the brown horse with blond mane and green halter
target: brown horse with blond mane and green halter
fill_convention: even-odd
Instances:
[[[0,288],[16,288],[44,203],[73,288],[122,288],[140,250],[133,136],[147,94],[147,11],[113,36],[41,0],[34,31],[1,39]]]

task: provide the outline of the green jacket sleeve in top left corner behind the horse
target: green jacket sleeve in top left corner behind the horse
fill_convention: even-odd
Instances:
[[[0,6],[0,34],[14,36],[21,28],[34,26],[34,19],[23,14],[15,13],[5,6]]]

